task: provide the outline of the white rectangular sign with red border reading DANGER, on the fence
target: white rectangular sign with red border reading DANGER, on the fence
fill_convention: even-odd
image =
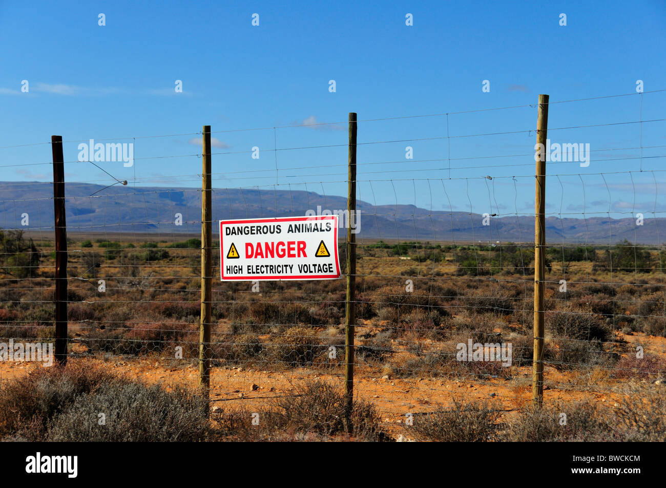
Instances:
[[[220,264],[222,281],[340,278],[338,216],[220,220]]]

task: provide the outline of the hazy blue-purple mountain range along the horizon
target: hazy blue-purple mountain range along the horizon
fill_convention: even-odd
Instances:
[[[201,228],[201,190],[197,188],[111,188],[87,183],[65,185],[68,232],[149,232],[197,234]],[[94,196],[91,196],[93,195]],[[342,196],[290,190],[216,188],[214,220],[274,216],[301,216],[308,210],[344,210]],[[357,238],[439,242],[533,242],[533,216],[483,216],[468,212],[430,211],[414,205],[380,205],[358,201]],[[28,225],[21,225],[28,216]],[[182,225],[176,225],[176,214]],[[53,230],[53,185],[44,182],[0,182],[0,228]],[[344,236],[346,231],[340,230]],[[660,244],[666,240],[666,218],[646,218],[637,226],[633,218],[546,219],[549,244],[615,244],[619,240]]]

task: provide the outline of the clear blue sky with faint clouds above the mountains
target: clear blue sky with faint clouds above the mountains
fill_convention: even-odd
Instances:
[[[547,211],[663,212],[666,122],[647,121],[666,119],[666,91],[648,93],[666,89],[665,35],[663,0],[0,0],[0,180],[51,180],[43,143],[59,134],[69,182],[113,182],[77,160],[93,138],[133,142],[132,167],[98,163],[131,185],[199,186],[196,132],[210,124],[214,186],[344,195],[354,111],[362,200],[529,213],[547,93],[551,141],[592,151],[585,168],[548,165]],[[636,93],[639,79],[643,95],[555,103]],[[487,110],[499,107],[517,108]],[[436,116],[396,118],[420,115]]]

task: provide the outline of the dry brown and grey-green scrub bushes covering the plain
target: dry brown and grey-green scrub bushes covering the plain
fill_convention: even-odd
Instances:
[[[7,249],[28,262],[33,256],[35,266],[19,266],[22,270],[17,272],[7,260],[11,253],[3,254],[0,342],[8,338],[51,341],[54,256],[39,252],[37,244],[51,252],[53,243],[35,243],[24,234],[3,232]],[[71,239],[71,350],[77,356],[98,360],[123,356],[123,362],[137,357],[174,361],[174,350],[182,347],[183,360],[176,360],[174,367],[185,367],[198,356],[200,240],[129,243],[115,239]],[[17,244],[19,241],[22,244]],[[635,254],[636,250],[643,254]],[[563,378],[559,385],[563,391],[590,387],[611,391],[631,381],[645,381],[644,386],[653,391],[643,388],[641,395],[657,407],[661,405],[653,399],[660,388],[654,381],[666,377],[666,367],[653,342],[666,334],[665,294],[659,273],[635,269],[659,263],[659,252],[634,249],[626,242],[611,249],[556,246],[549,250],[552,264],[546,278],[544,361],[550,371],[547,377],[557,373]],[[421,381],[434,381],[428,388],[440,395],[448,394],[444,383],[451,381],[465,387],[479,381],[500,382],[522,391],[519,379],[525,371],[530,374],[533,354],[533,249],[511,243],[453,246],[380,241],[359,246],[358,254],[355,363],[361,379],[389,377],[396,382],[386,390],[390,395],[401,395],[400,391],[418,387],[412,385]],[[609,266],[601,266],[606,258]],[[214,259],[218,262],[219,256],[214,254]],[[17,286],[20,273],[27,273],[30,286]],[[566,291],[559,290],[560,276],[567,277]],[[104,292],[98,288],[100,279],[105,280]],[[345,298],[344,280],[261,282],[258,291],[249,283],[214,288],[213,366],[224,368],[222,371],[231,367],[238,371],[241,367],[289,371],[290,377],[303,371],[340,377]],[[511,342],[511,366],[459,361],[456,346],[469,340],[480,344]],[[644,358],[636,358],[637,345],[645,348]],[[78,361],[73,360],[71,367]],[[150,421],[156,426],[174,423],[180,415],[182,439],[388,439],[384,421],[370,403],[355,404],[353,425],[345,423],[340,417],[344,402],[336,389],[340,386],[337,381],[334,385],[298,385],[280,399],[281,403],[268,401],[252,411],[224,405],[222,413],[218,411],[209,422],[198,413],[196,397],[186,391],[137,385],[102,375],[94,368],[86,382],[69,368],[65,372],[53,368],[49,373],[35,369],[21,379],[27,381],[21,383],[23,390],[11,393],[3,389],[0,409],[5,413],[0,413],[0,437],[28,439],[32,434],[27,429],[39,425],[36,432],[51,440],[81,436],[174,440],[159,427],[139,427],[139,422],[149,421],[149,417],[133,410],[131,398],[137,398],[152,405],[149,409],[165,411],[165,415],[151,414]],[[35,382],[37,387],[32,386]],[[24,393],[19,395],[18,391]],[[518,401],[517,393],[515,398]],[[617,403],[624,405],[620,400],[617,396]],[[456,402],[439,407],[423,399],[418,405],[420,412],[427,413],[417,412],[414,428],[404,435],[434,441],[633,440],[663,435],[653,413],[645,419],[632,417],[637,404],[627,403],[608,413],[607,405],[615,400],[604,405],[581,403],[581,410],[569,417],[567,429],[552,425],[555,410],[532,411],[521,405],[508,422],[501,411],[488,404]],[[120,417],[114,417],[121,428],[93,435],[84,419],[93,411],[92,405],[100,403],[121,412]],[[260,427],[250,423],[253,411],[262,416]],[[607,426],[613,422],[637,427],[609,431]],[[647,435],[644,429],[653,433]],[[395,429],[389,431],[394,437]]]

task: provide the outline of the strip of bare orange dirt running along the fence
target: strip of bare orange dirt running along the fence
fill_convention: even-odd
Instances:
[[[633,334],[622,337],[631,344],[641,344],[651,354],[666,357],[666,338]],[[83,358],[74,357],[73,361]],[[169,388],[186,385],[195,388],[198,383],[198,369],[193,363],[176,362],[164,358],[116,357],[107,360],[86,358],[115,373],[127,375],[149,384],[160,384]],[[31,367],[30,363],[1,362],[0,379],[7,380],[23,375]],[[531,367],[514,367],[512,377],[468,381],[447,377],[412,377],[398,379],[380,376],[376,369],[360,366],[355,371],[354,391],[358,399],[376,405],[384,422],[398,424],[404,422],[406,413],[426,413],[438,406],[448,406],[455,400],[478,399],[503,411],[505,418],[531,401]],[[598,379],[596,379],[598,377]],[[210,378],[210,399],[212,407],[222,410],[269,407],[275,397],[290,394],[294,385],[302,381],[322,379],[344,385],[341,371],[322,372],[322,369],[296,367],[284,371],[267,371],[252,367],[218,366],[212,368]],[[545,367],[544,402],[575,401],[593,399],[612,408],[619,393],[615,387],[621,381],[607,379],[598,371],[557,371]],[[398,425],[396,425],[397,427]]]

